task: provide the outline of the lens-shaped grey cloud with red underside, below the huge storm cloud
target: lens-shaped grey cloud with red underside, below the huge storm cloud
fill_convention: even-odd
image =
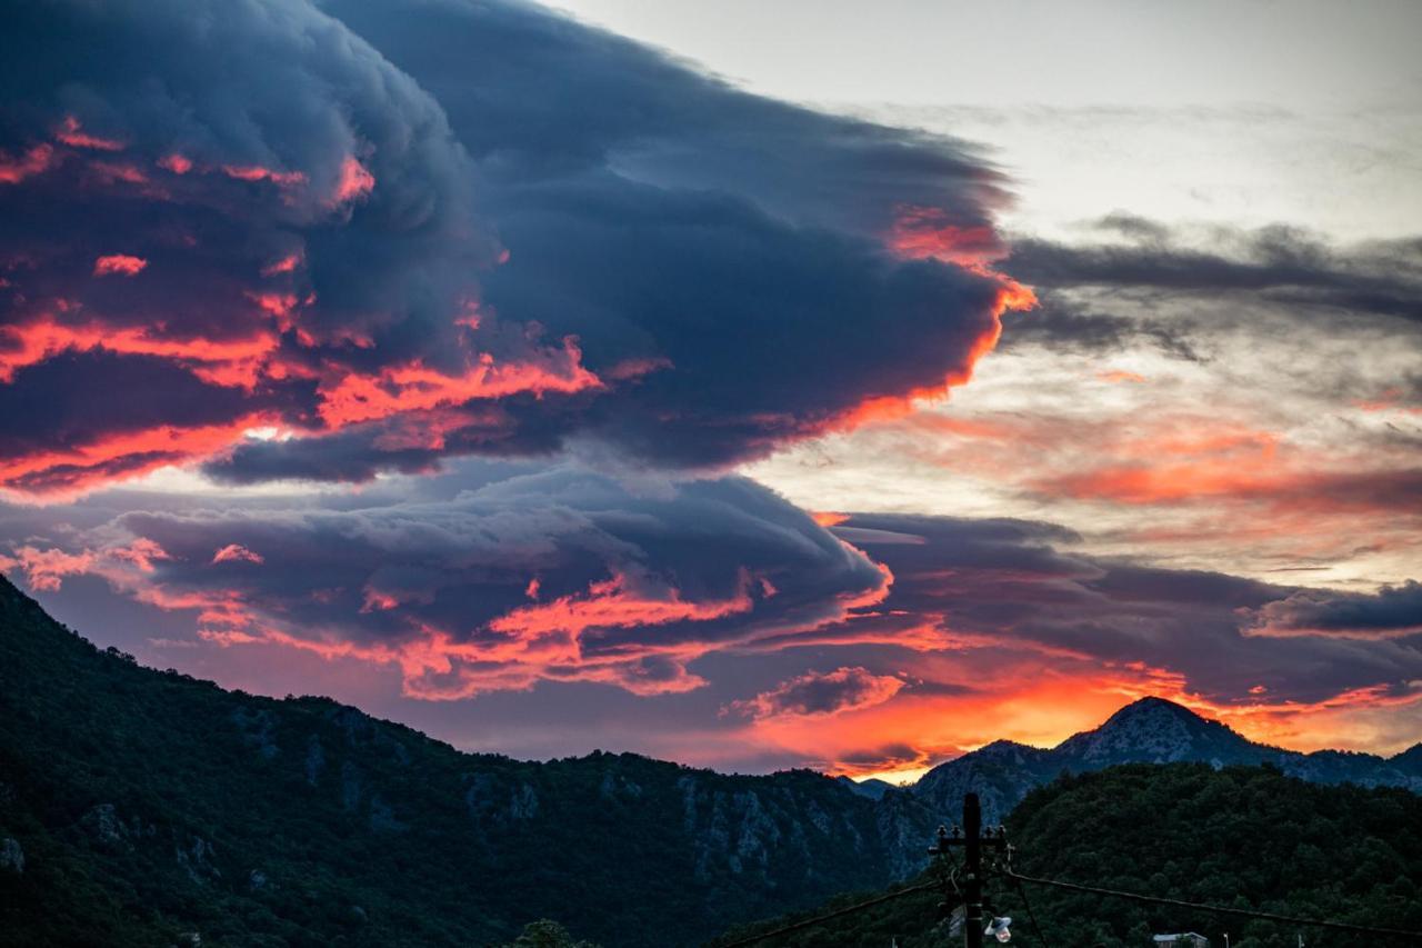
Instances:
[[[540,679],[684,690],[700,655],[840,621],[887,586],[742,478],[638,493],[559,467],[439,501],[195,504],[124,512],[68,554],[82,568],[61,562],[192,611],[209,641],[397,665],[431,697]],[[41,575],[47,551],[7,565]]]

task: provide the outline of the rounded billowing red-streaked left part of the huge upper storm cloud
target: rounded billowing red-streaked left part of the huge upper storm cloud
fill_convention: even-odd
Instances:
[[[341,379],[454,369],[469,343],[452,316],[498,252],[472,164],[434,100],[314,9],[26,6],[0,90],[4,483],[102,484],[316,426]],[[38,446],[11,427],[70,393],[108,407]]]

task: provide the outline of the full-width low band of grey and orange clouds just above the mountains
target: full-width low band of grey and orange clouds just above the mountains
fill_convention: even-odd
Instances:
[[[825,528],[742,478],[464,461],[414,493],[11,510],[30,537],[0,568],[162,616],[131,621],[148,660],[255,660],[267,688],[292,663],[289,688],[337,693],[392,678],[391,713],[520,753],[877,771],[1054,743],[1149,693],[1256,739],[1395,750],[1422,710],[1415,586],[1130,565],[1031,521]]]

